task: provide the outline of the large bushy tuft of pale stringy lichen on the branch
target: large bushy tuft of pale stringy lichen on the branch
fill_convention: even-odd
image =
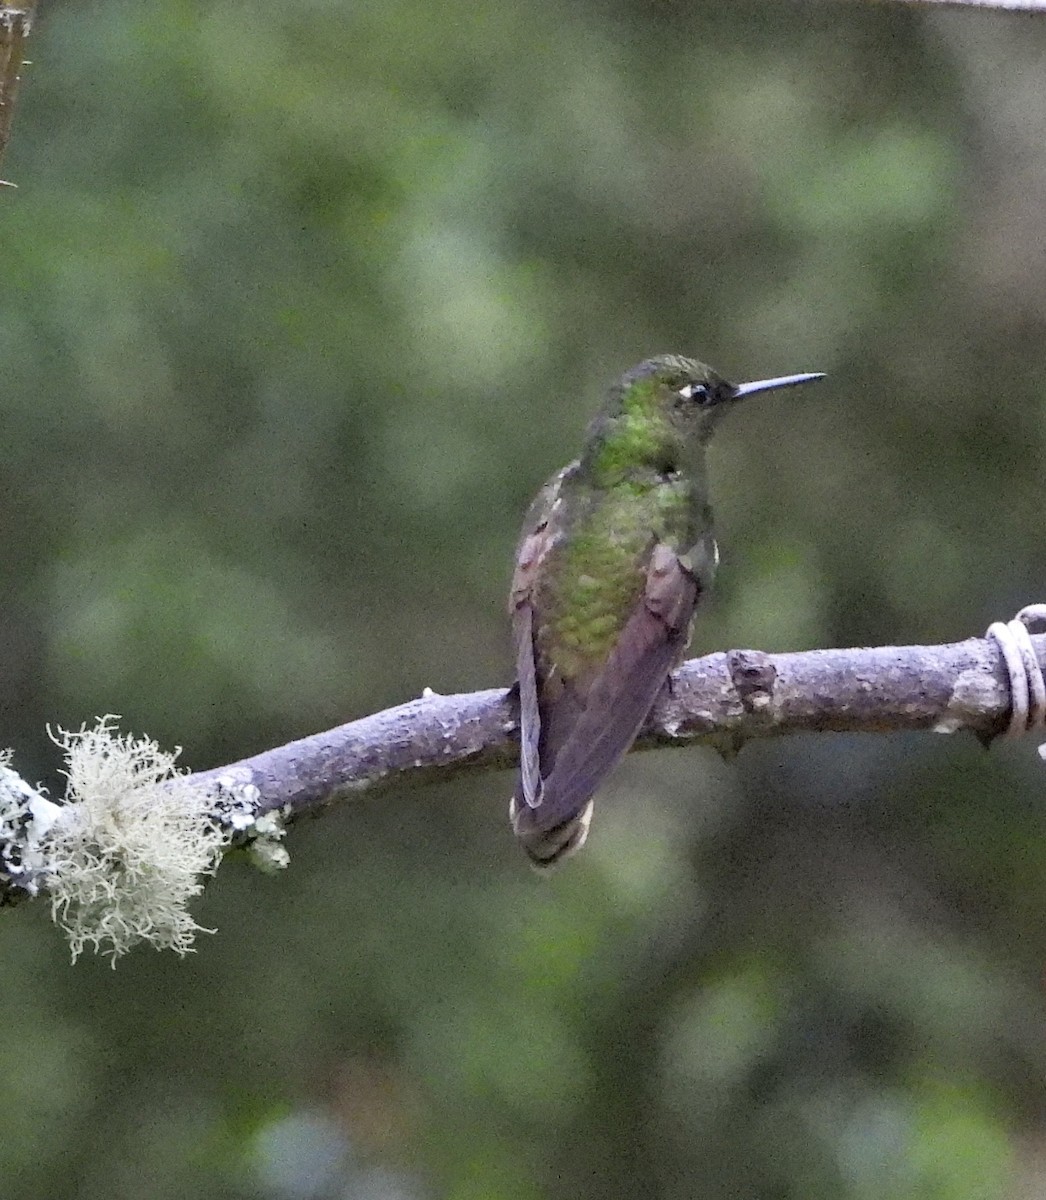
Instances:
[[[48,836],[48,887],[73,961],[86,946],[113,965],[139,942],[188,953],[197,932],[212,932],[188,901],[228,844],[210,798],[175,768],[180,751],[121,736],[112,718],[54,740],[68,786]]]

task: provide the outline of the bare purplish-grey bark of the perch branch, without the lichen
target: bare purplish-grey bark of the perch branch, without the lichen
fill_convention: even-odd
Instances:
[[[1032,642],[1046,667],[1046,635]],[[1008,679],[998,647],[986,638],[710,654],[675,672],[636,749],[705,742],[737,750],[753,738],[800,732],[968,730],[988,739],[1006,725]],[[361,791],[511,767],[518,754],[516,707],[505,689],[429,692],[188,778],[200,787],[254,787],[259,812],[293,817]]]

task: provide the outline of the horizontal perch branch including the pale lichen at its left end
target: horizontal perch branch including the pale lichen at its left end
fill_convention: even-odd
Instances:
[[[1028,644],[1026,666],[1035,671],[1034,655],[1041,670],[1046,635]],[[188,901],[227,848],[245,845],[259,866],[285,866],[284,823],[305,811],[362,791],[511,767],[516,708],[503,688],[427,691],[197,774],[178,773],[178,751],[120,734],[109,718],[92,730],[60,732],[64,804],[0,755],[0,901],[48,895],[74,956],[92,946],[115,962],[138,942],[184,954],[199,930]],[[802,654],[731,650],[675,672],[636,748],[705,742],[733,751],[753,738],[814,731],[967,730],[990,739],[1009,718],[1010,673],[988,638]]]

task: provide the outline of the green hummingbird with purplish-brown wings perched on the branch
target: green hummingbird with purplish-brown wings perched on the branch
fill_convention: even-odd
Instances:
[[[823,378],[733,384],[693,359],[647,359],[530,505],[509,601],[521,719],[509,817],[539,870],[584,845],[593,794],[683,660],[719,564],[705,446],[720,418]]]

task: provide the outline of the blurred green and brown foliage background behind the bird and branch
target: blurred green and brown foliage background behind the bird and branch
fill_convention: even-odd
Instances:
[[[205,768],[510,678],[522,512],[651,353],[822,370],[714,448],[695,650],[1046,600],[1046,22],[859,4],[49,0],[0,196],[0,744]],[[507,774],[228,863],[186,960],[0,924],[5,1195],[1046,1195],[1032,744]]]

